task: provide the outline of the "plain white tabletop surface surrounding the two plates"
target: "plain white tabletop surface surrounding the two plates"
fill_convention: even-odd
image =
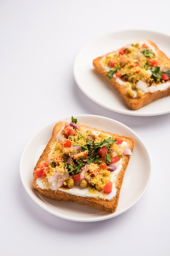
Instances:
[[[73,77],[77,53],[98,36],[125,29],[170,36],[169,10],[168,0],[0,1],[3,256],[170,255],[170,114],[138,117],[107,110],[89,99]],[[123,214],[100,222],[48,213],[30,198],[19,173],[22,151],[36,132],[83,114],[129,126],[144,141],[152,164],[142,198]]]

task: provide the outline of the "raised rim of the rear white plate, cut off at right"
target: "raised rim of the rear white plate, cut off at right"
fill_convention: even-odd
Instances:
[[[94,101],[95,103],[97,103],[98,105],[102,106],[103,108],[106,108],[108,110],[111,110],[113,112],[117,112],[117,113],[120,113],[120,114],[124,114],[124,115],[131,115],[131,116],[145,116],[145,117],[150,117],[150,116],[157,116],[157,115],[166,115],[168,113],[170,113],[170,109],[169,110],[164,110],[164,111],[161,111],[161,112],[147,112],[147,109],[146,109],[146,112],[142,112],[142,108],[139,109],[140,112],[138,112],[138,110],[130,110],[130,109],[123,109],[123,110],[119,110],[119,109],[115,109],[113,107],[110,107],[110,106],[105,106],[104,103],[102,102],[99,102],[97,99],[94,99],[89,93],[87,93],[84,88],[80,85],[79,81],[78,81],[78,77],[76,75],[76,61],[77,59],[79,58],[79,55],[81,54],[81,52],[88,46],[90,45],[92,42],[96,41],[96,40],[99,40],[101,38],[105,38],[107,36],[113,36],[114,34],[116,33],[124,33],[124,32],[141,32],[141,33],[152,33],[152,34],[157,34],[157,36],[165,36],[167,37],[169,40],[170,40],[170,35],[168,34],[165,34],[165,33],[162,33],[162,32],[159,32],[159,31],[156,31],[156,30],[150,30],[150,29],[120,29],[120,30],[115,30],[115,31],[112,31],[112,32],[109,32],[109,33],[105,33],[105,34],[101,34],[99,36],[96,36],[94,38],[92,38],[91,40],[89,40],[89,42],[87,42],[85,45],[83,45],[83,47],[81,47],[81,49],[79,49],[79,51],[77,52],[76,54],[76,57],[74,58],[74,64],[73,64],[73,75],[74,75],[74,80],[76,81],[76,85],[78,86],[78,88],[89,98],[91,99],[92,101]],[[114,92],[114,91],[113,91]],[[169,96],[170,97],[170,96]],[[151,103],[150,103],[151,104]],[[149,105],[150,105],[149,104]],[[149,106],[147,105],[147,106]],[[147,107],[145,106],[145,107]],[[126,107],[126,105],[125,105]]]

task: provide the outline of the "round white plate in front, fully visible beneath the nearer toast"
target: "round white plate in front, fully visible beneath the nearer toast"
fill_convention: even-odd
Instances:
[[[124,175],[124,181],[120,192],[118,208],[114,213],[100,212],[91,207],[70,202],[57,202],[48,199],[39,192],[35,191],[32,186],[33,169],[39,159],[42,151],[48,143],[54,125],[58,122],[49,124],[37,134],[26,145],[20,159],[20,177],[22,184],[31,198],[43,209],[55,216],[74,221],[92,222],[106,220],[118,216],[130,209],[144,194],[150,181],[151,165],[146,146],[142,140],[127,126],[118,121],[96,115],[77,115],[80,124],[96,127],[101,130],[125,135],[135,140],[133,155],[129,161],[128,168]],[[64,118],[59,121],[65,121]],[[145,159],[145,161],[143,161]]]

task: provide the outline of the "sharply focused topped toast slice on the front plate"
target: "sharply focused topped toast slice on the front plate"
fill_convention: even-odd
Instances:
[[[33,187],[47,198],[113,213],[134,140],[76,122],[55,124],[34,168]]]

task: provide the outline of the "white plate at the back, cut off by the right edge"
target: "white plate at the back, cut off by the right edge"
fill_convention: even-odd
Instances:
[[[135,116],[169,113],[170,96],[159,99],[139,110],[129,110],[111,85],[94,72],[92,62],[95,58],[140,39],[152,40],[170,58],[170,36],[145,30],[118,31],[92,40],[78,52],[74,61],[74,79],[87,97],[109,110]]]

